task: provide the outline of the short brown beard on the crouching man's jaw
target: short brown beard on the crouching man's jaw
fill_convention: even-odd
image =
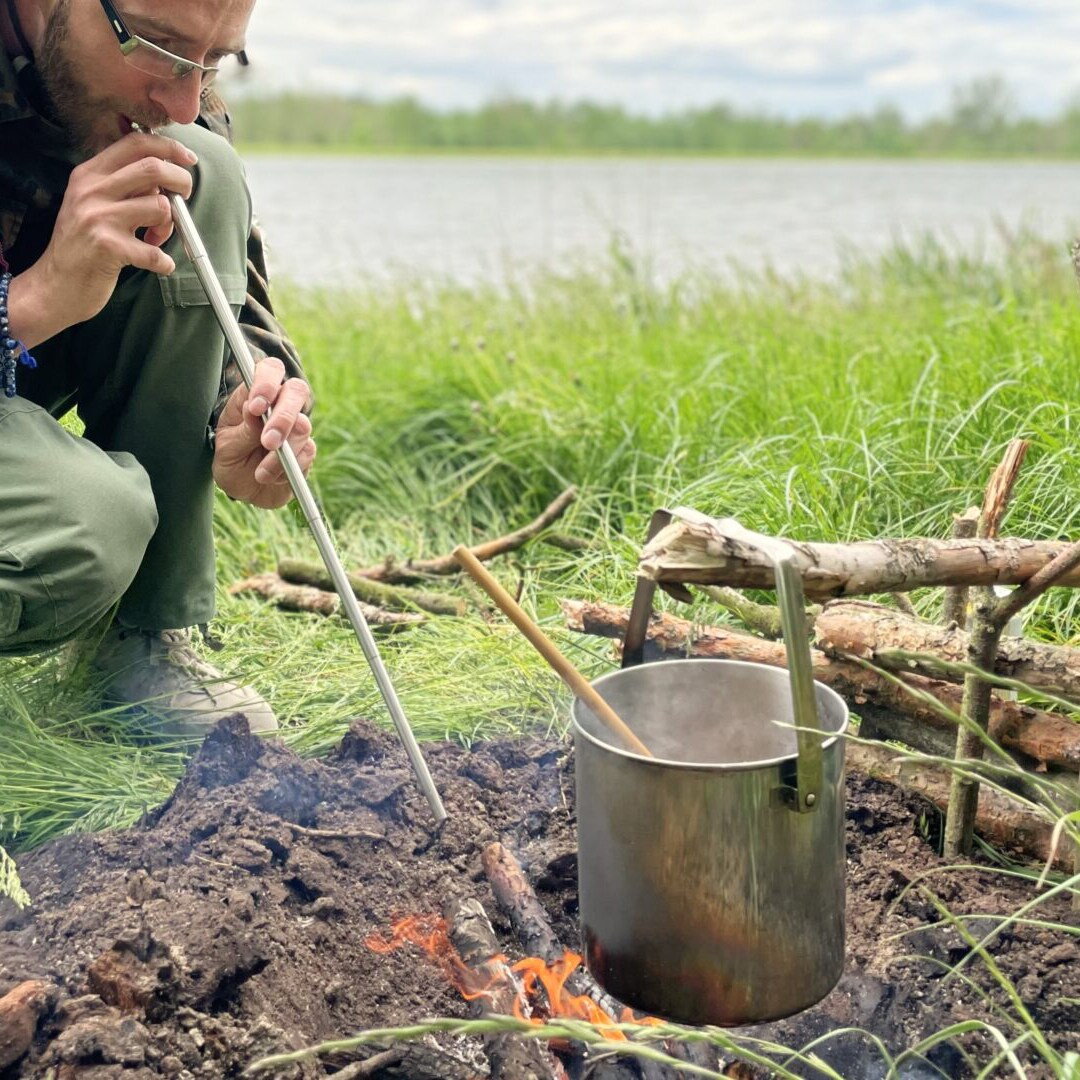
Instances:
[[[71,144],[87,156],[104,150],[121,136],[117,117],[124,114],[144,127],[159,127],[168,118],[149,114],[146,107],[132,108],[119,98],[93,97],[76,62],[68,33],[70,0],[57,0],[49,16],[37,55],[38,73],[49,94],[55,119],[67,132]]]

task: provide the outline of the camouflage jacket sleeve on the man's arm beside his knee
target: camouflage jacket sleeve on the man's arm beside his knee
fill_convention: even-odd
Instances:
[[[232,121],[229,112],[225,102],[211,87],[203,91],[199,123],[232,141]],[[252,231],[247,237],[247,291],[240,310],[240,326],[256,360],[262,356],[276,356],[284,363],[287,377],[305,378],[300,354],[274,314],[267,274],[266,245],[257,220],[252,221]],[[240,367],[230,354],[221,373],[221,390],[211,415],[212,431],[217,427],[229,395],[242,382]],[[305,411],[310,411],[312,404],[313,400],[309,394]]]

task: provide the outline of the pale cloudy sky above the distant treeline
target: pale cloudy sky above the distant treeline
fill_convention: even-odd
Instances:
[[[1080,93],[1080,0],[256,0],[247,43],[253,92],[443,108],[512,95],[835,118],[891,104],[920,120],[986,76],[1028,116]]]

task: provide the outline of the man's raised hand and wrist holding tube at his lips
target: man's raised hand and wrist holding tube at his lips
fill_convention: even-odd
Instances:
[[[96,315],[125,266],[170,274],[173,218],[162,191],[191,194],[197,158],[176,139],[131,134],[71,171],[41,258],[12,281],[14,336],[32,348]],[[136,235],[146,230],[141,239]]]

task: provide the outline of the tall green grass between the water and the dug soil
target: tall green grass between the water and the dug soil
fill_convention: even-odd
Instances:
[[[495,569],[589,673],[610,666],[609,648],[563,632],[556,600],[629,600],[657,507],[807,539],[944,536],[1024,436],[1007,530],[1072,536],[1080,307],[1065,239],[1015,238],[999,266],[931,243],[851,257],[829,284],[746,273],[739,287],[657,287],[616,244],[607,272],[527,288],[280,285],[319,402],[313,484],[347,565],[492,537],[577,484],[557,527],[593,549],[534,544]],[[357,714],[384,718],[342,621],[225,591],[279,557],[316,557],[298,513],[217,509],[216,662],[253,680],[303,753]],[[916,603],[931,613],[940,597]],[[1075,606],[1052,593],[1029,633],[1072,639]],[[718,618],[707,604],[691,613]],[[381,640],[421,738],[566,724],[567,694],[509,624],[434,618]],[[181,769],[62,671],[55,658],[0,666],[0,841],[130,823]]]

